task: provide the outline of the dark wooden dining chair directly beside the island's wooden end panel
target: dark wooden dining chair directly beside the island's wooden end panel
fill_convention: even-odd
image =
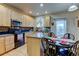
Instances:
[[[44,56],[55,56],[56,55],[56,46],[53,43],[50,43],[48,39],[42,39],[41,44],[43,47],[42,52]]]

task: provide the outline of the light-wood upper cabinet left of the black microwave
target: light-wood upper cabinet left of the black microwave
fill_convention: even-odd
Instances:
[[[10,26],[10,9],[0,5],[0,26]]]

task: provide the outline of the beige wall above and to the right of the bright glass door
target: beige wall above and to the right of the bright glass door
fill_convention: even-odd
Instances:
[[[75,40],[79,40],[79,28],[77,27],[77,20],[79,19],[79,10],[75,12],[63,12],[53,14],[53,18],[66,18],[67,19],[67,31],[75,35]]]

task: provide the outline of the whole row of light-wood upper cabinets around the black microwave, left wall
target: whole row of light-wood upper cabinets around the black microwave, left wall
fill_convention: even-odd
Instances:
[[[34,19],[32,17],[0,5],[0,26],[11,26],[11,19],[22,22],[23,27],[34,26]]]

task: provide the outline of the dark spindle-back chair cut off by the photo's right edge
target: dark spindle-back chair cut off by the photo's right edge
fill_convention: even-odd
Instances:
[[[69,55],[79,56],[79,41],[76,41],[73,46],[70,48]]]

